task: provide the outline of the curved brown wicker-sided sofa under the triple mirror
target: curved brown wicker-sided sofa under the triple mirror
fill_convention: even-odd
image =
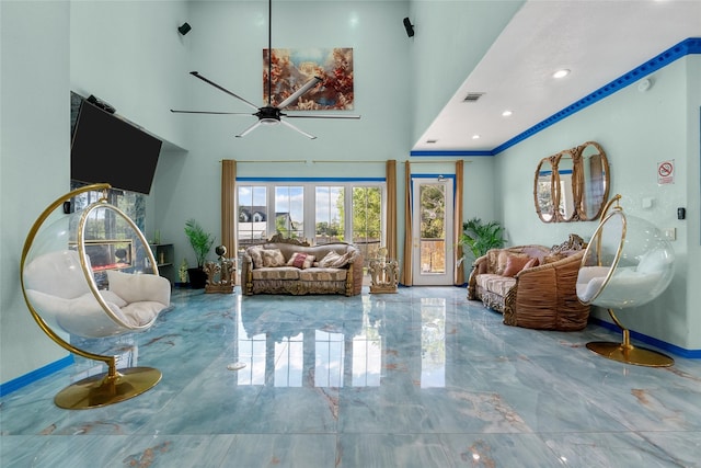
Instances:
[[[473,263],[468,299],[504,315],[504,323],[573,331],[587,326],[589,306],[576,283],[586,243],[576,235],[560,246],[492,249]]]

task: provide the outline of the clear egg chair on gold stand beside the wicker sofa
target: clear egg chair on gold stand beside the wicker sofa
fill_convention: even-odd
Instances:
[[[674,364],[671,357],[633,346],[630,331],[613,313],[613,309],[634,308],[657,298],[675,274],[675,252],[669,241],[653,224],[625,215],[620,198],[616,195],[608,203],[587,246],[577,275],[577,297],[585,305],[608,309],[622,330],[623,342],[591,342],[587,349],[627,364],[668,367]]]

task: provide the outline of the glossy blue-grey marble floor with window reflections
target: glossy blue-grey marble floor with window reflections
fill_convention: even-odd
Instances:
[[[701,361],[608,361],[594,324],[507,327],[456,287],[173,306],[119,343],[163,373],[148,392],[59,409],[77,359],[2,398],[0,466],[701,467]]]

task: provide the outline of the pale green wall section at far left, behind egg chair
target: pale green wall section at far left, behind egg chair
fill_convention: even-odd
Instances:
[[[20,258],[36,217],[70,190],[69,4],[0,2],[0,381],[68,353],[30,315]]]

